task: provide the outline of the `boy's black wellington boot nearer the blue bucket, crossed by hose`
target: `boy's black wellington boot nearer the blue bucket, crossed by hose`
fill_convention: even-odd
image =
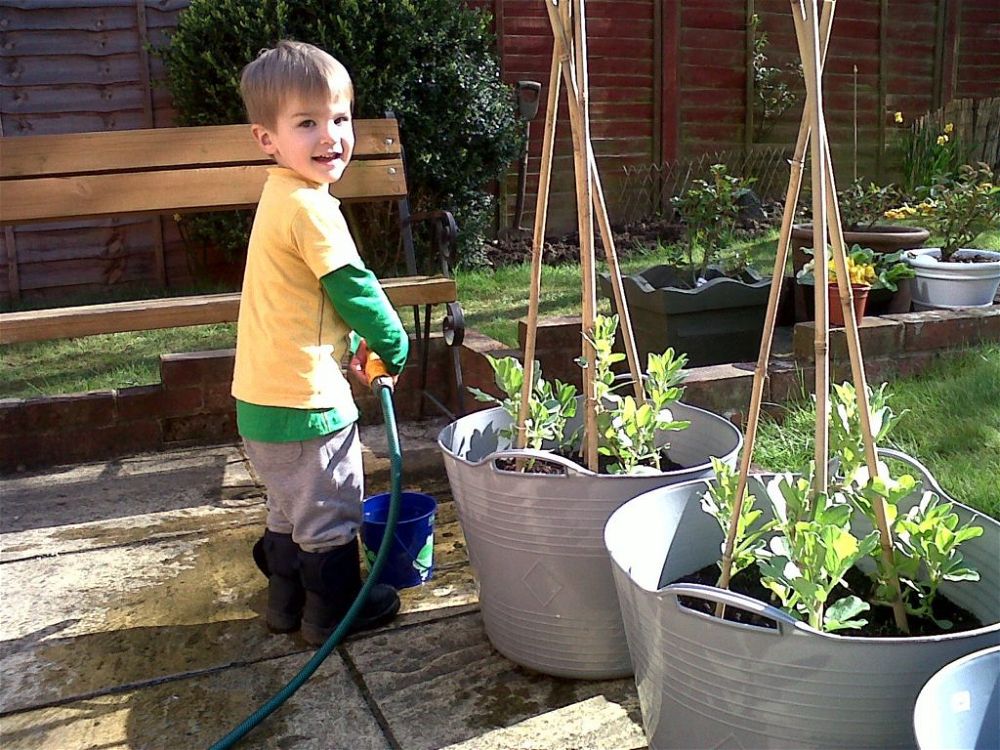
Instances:
[[[358,538],[326,552],[299,553],[306,604],[302,611],[302,637],[311,646],[322,646],[347,614],[361,590]],[[351,624],[351,632],[389,622],[399,611],[399,595],[392,586],[377,583]]]

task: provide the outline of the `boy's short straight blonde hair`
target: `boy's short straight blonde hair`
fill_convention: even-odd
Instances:
[[[240,94],[250,122],[267,128],[276,125],[282,106],[291,97],[307,101],[347,97],[354,102],[347,68],[319,47],[287,39],[261,50],[243,68]]]

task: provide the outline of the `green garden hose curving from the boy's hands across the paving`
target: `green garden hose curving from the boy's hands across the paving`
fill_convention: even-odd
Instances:
[[[319,650],[313,654],[312,658],[304,667],[302,667],[299,673],[295,675],[295,677],[293,677],[288,684],[285,685],[285,687],[275,693],[275,695],[272,696],[264,705],[250,714],[232,731],[230,731],[229,734],[212,745],[210,750],[227,750],[227,748],[233,747],[237,742],[246,737],[246,735],[254,727],[274,713],[274,711],[276,711],[282,703],[288,700],[296,690],[306,683],[306,680],[312,677],[313,673],[319,669],[319,665],[326,660],[326,657],[330,655],[333,649],[335,649],[344,639],[344,636],[347,635],[351,628],[351,624],[358,616],[362,606],[364,606],[365,599],[368,598],[368,592],[371,590],[371,587],[375,585],[375,581],[378,579],[378,575],[382,571],[382,567],[385,565],[386,558],[389,556],[389,547],[391,546],[396,533],[396,522],[399,520],[399,499],[401,495],[400,488],[402,486],[403,456],[399,448],[399,432],[396,429],[396,411],[393,408],[392,403],[392,388],[377,382],[375,387],[376,390],[379,391],[379,398],[382,402],[382,415],[385,418],[385,433],[389,447],[392,495],[389,502],[388,518],[386,518],[385,522],[385,533],[382,536],[382,545],[379,547],[378,555],[376,555],[375,562],[372,564],[371,571],[368,574],[368,579],[361,587],[361,591],[358,592],[358,596],[351,605],[351,608],[347,610],[347,614],[344,615],[344,619],[340,621],[340,624],[336,627],[333,633],[330,634],[330,637],[327,638],[326,643],[319,647]]]

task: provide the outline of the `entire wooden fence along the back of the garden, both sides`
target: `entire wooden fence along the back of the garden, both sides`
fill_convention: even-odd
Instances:
[[[523,224],[530,226],[552,49],[547,14],[542,0],[466,1],[494,15],[505,80],[543,85],[529,143]],[[188,2],[4,0],[0,132],[16,137],[171,125],[170,96],[160,85],[162,61],[144,53],[142,44],[164,45]],[[594,149],[612,220],[624,185],[622,166],[748,144],[789,147],[794,141],[801,100],[768,133],[747,132],[753,94],[747,81],[750,13],[759,16],[760,30],[768,34],[769,65],[797,63],[787,0],[588,0]],[[791,81],[801,92],[797,76]],[[824,89],[838,181],[855,171],[889,174],[886,149],[898,136],[894,112],[901,111],[909,122],[937,101],[988,97],[998,89],[996,0],[840,0]],[[565,104],[559,118],[552,232],[572,230],[576,223]],[[498,225],[504,228],[513,214],[516,165],[499,188]],[[0,235],[0,303],[18,299],[22,291],[39,297],[106,289],[112,279],[118,285],[145,273],[150,275],[141,283],[189,283],[188,249],[172,225],[169,217],[162,225],[149,220],[84,224],[81,242],[72,250],[66,238],[75,224],[5,230]],[[109,256],[112,246],[116,250]],[[95,270],[84,272],[81,264],[88,258]]]

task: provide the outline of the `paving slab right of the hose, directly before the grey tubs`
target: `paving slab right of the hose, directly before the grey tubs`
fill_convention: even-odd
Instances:
[[[377,633],[351,641],[345,651],[364,675],[398,747],[432,750],[465,743],[470,748],[519,748],[528,736],[534,737],[534,746],[549,750],[645,746],[632,678],[567,680],[524,669],[493,649],[478,612]],[[620,711],[595,711],[586,726],[575,722],[561,737],[549,732],[544,721],[523,724],[595,697]],[[582,713],[587,711],[575,715]],[[483,739],[486,736],[492,739]],[[480,740],[484,744],[478,744]]]

